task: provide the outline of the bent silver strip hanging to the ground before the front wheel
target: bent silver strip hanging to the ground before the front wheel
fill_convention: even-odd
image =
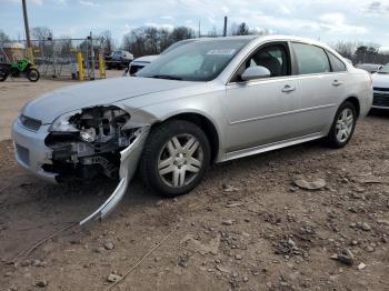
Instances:
[[[80,225],[83,225],[92,220],[101,221],[121,201],[137,170],[144,142],[147,140],[147,137],[149,136],[149,131],[150,126],[146,126],[139,128],[134,132],[136,139],[128,148],[120,152],[119,184],[114,189],[113,193],[106,200],[106,202],[99,209],[97,209],[92,214],[88,215],[82,221],[80,221]]]

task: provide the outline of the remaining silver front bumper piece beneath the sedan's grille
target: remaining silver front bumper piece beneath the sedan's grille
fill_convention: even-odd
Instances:
[[[44,144],[50,126],[41,126],[38,131],[23,128],[19,118],[12,123],[12,141],[17,162],[31,171],[40,179],[56,183],[57,173],[47,172],[42,169],[44,163],[52,163],[52,151]]]

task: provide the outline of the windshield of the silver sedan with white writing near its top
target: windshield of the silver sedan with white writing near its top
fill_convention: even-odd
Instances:
[[[136,77],[210,81],[218,77],[250,39],[194,41],[176,48],[136,73]]]

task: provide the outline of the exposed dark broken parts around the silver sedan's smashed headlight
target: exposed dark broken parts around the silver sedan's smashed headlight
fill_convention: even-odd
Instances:
[[[80,110],[66,121],[67,131],[51,131],[46,146],[52,149],[52,164],[43,169],[59,173],[58,180],[118,178],[120,151],[134,139],[134,129],[124,129],[130,114],[117,107]]]

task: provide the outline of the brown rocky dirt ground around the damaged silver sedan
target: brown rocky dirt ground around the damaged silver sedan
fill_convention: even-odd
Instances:
[[[57,86],[6,83],[1,116]],[[311,142],[215,165],[174,200],[136,179],[106,221],[62,232],[17,267],[8,262],[84,218],[116,182],[48,184],[16,164],[9,140],[0,177],[0,290],[107,290],[133,265],[113,290],[389,290],[389,113],[360,121],[342,150]],[[303,190],[299,177],[327,185]],[[345,249],[353,258],[331,259]]]

